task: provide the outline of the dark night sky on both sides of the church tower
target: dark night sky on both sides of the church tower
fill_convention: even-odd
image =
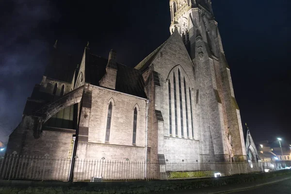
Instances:
[[[94,3],[92,3],[94,2]],[[255,141],[291,144],[290,0],[212,0],[242,123]],[[289,9],[288,9],[289,8]],[[135,66],[170,36],[169,0],[2,0],[0,2],[0,141],[19,124],[56,39],[81,56]]]

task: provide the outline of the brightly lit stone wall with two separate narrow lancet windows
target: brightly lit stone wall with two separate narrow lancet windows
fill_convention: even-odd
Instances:
[[[92,108],[88,143],[79,142],[79,158],[144,161],[146,143],[146,99],[90,85]],[[113,104],[110,140],[105,142],[109,103]],[[137,109],[136,144],[133,144],[133,117]],[[81,123],[82,124],[82,123]]]

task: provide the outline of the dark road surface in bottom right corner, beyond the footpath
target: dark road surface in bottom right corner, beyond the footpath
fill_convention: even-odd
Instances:
[[[227,194],[291,194],[291,179],[265,185],[255,189],[240,192],[230,192]]]

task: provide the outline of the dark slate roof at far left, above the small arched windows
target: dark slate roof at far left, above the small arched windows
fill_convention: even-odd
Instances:
[[[44,75],[51,79],[71,83],[75,69],[81,63],[81,57],[81,55],[70,55],[60,49],[53,49]]]

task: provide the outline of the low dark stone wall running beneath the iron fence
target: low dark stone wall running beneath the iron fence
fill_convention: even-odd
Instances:
[[[291,175],[291,170],[220,178],[138,182],[52,182],[0,180],[0,194],[148,194],[227,184],[240,184]]]

